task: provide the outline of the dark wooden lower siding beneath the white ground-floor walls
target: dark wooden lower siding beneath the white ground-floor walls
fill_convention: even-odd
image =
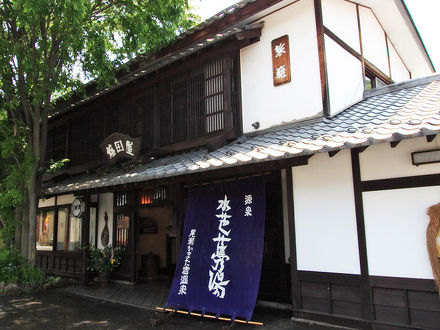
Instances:
[[[372,306],[361,295],[361,276],[298,271],[298,317],[374,329],[439,329],[440,299],[433,280],[370,276]],[[371,308],[368,320],[363,310]],[[357,321],[356,321],[357,320]],[[369,326],[366,326],[370,328]]]

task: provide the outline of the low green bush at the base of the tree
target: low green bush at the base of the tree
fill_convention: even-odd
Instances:
[[[28,264],[18,251],[0,250],[0,282],[40,287],[44,283],[41,269]]]

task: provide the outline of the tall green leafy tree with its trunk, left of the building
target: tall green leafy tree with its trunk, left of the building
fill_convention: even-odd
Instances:
[[[158,50],[190,27],[188,10],[187,0],[0,0],[0,110],[16,127],[24,123],[32,159],[23,182],[29,260],[35,260],[53,100],[78,86],[75,72],[97,79],[100,86],[113,83],[115,69],[127,59]]]

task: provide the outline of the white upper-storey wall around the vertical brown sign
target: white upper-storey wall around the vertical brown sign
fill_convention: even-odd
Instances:
[[[313,0],[301,0],[263,18],[261,40],[240,51],[243,131],[322,113]],[[287,34],[292,80],[273,86],[271,41]]]

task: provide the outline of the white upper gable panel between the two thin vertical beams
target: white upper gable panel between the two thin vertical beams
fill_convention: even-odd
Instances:
[[[369,8],[359,7],[364,57],[389,75],[385,32]]]

